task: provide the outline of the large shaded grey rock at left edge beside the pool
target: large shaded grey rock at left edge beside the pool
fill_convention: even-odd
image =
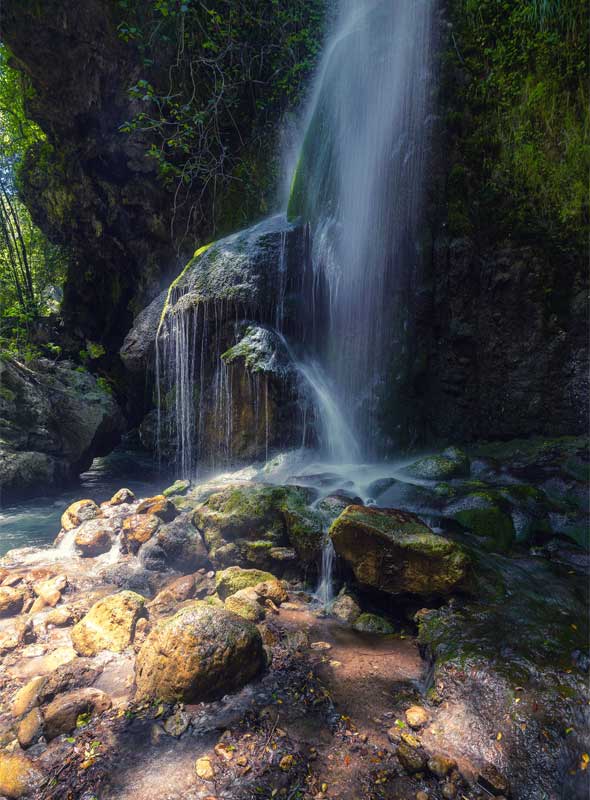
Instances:
[[[0,489],[4,497],[71,482],[124,429],[113,397],[70,362],[0,360]]]

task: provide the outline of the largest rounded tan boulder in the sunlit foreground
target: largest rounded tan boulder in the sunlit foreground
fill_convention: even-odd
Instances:
[[[254,625],[197,602],[147,637],[137,656],[137,693],[199,702],[239,689],[264,665],[262,639]]]

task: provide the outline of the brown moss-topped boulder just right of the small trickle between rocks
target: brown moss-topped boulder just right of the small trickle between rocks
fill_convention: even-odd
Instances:
[[[358,583],[388,594],[448,595],[465,586],[469,559],[417,516],[349,506],[330,528],[336,553]]]

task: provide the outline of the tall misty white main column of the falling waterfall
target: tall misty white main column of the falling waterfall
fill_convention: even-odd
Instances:
[[[368,452],[419,259],[435,11],[436,0],[341,0],[291,189],[324,287],[321,362]]]

